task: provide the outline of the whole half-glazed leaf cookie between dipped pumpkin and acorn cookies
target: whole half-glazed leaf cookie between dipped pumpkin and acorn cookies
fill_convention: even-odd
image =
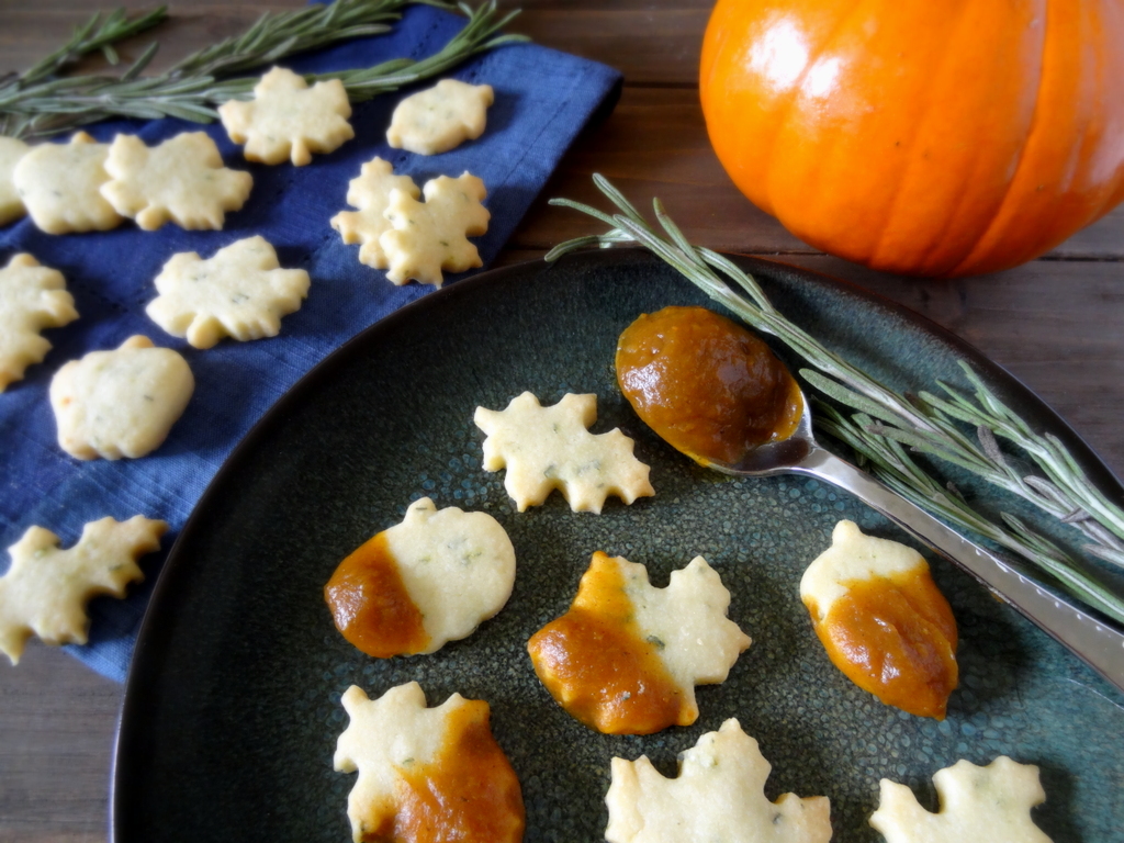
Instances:
[[[698,719],[696,685],[724,682],[750,636],[701,556],[655,588],[642,564],[598,551],[570,610],[527,642],[535,673],[571,715],[605,734]]]

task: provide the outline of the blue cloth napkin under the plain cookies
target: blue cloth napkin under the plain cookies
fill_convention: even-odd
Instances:
[[[389,58],[422,58],[437,52],[464,18],[417,6],[407,9],[391,34],[281,62],[302,72],[332,72]],[[355,107],[355,139],[303,167],[250,164],[221,126],[205,130],[227,166],[247,170],[254,188],[246,206],[227,215],[221,232],[184,232],[169,224],[142,232],[132,221],[105,233],[52,236],[27,219],[0,229],[0,265],[29,252],[60,270],[81,316],[48,329],[46,360],[0,393],[0,549],[40,525],[71,546],[87,522],[110,515],[163,518],[171,525],[162,551],[140,561],[146,581],[125,600],[97,598],[87,646],[70,652],[103,676],[124,681],[152,583],[169,547],[196,501],[234,445],[302,374],[344,341],[397,308],[434,290],[410,283],[395,287],[383,272],[359,263],[359,246],[346,246],[328,220],[347,208],[347,182],[379,155],[422,187],[430,178],[465,170],[483,179],[488,233],[474,238],[487,266],[510,237],[563,153],[599,110],[611,108],[620,75],[611,67],[533,44],[509,45],[472,58],[448,75],[496,91],[482,137],[451,152],[420,156],[391,149],[386,129],[398,101],[414,90],[384,94]],[[434,82],[422,83],[426,88]],[[154,145],[180,132],[198,130],[175,119],[116,121],[89,129],[99,140],[118,132],[138,134]],[[229,243],[263,235],[281,265],[306,269],[308,299],[282,320],[281,334],[250,343],[224,341],[198,351],[165,334],[144,312],[155,298],[153,279],[176,252],[210,257]],[[465,273],[466,274],[466,273]],[[457,275],[446,277],[446,283]],[[134,334],[180,351],[196,378],[187,411],[167,441],[138,460],[82,462],[56,442],[47,400],[52,375],[70,360],[94,350],[116,348]],[[0,573],[9,566],[0,551]]]

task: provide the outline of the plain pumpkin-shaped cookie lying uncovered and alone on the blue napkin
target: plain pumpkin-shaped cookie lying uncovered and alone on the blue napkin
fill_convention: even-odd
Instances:
[[[188,362],[146,336],[90,352],[51,381],[58,445],[79,460],[144,456],[167,437],[194,387]]]

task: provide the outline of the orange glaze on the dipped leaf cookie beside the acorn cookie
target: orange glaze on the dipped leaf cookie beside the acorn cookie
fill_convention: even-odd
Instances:
[[[571,715],[609,735],[647,735],[687,726],[698,711],[683,699],[646,641],[617,563],[598,551],[570,610],[527,642],[535,672]]]

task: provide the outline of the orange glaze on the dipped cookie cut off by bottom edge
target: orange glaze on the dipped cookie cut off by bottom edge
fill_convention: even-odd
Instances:
[[[372,843],[518,843],[523,791],[488,725],[488,704],[468,700],[448,716],[445,741],[428,763],[398,768],[397,812],[363,836]]]

